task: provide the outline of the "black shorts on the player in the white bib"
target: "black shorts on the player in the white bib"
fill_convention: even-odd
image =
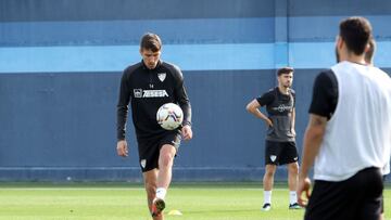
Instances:
[[[383,182],[380,169],[366,168],[348,180],[316,180],[305,220],[378,220]]]

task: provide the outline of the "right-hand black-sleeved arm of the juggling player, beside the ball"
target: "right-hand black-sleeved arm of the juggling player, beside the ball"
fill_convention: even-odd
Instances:
[[[182,122],[182,138],[184,140],[192,139],[192,130],[191,130],[191,104],[189,101],[189,96],[186,92],[184,75],[180,69],[175,66],[174,67],[174,79],[175,79],[175,96],[184,112],[184,122]]]

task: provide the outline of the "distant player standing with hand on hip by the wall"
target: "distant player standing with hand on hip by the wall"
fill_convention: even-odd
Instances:
[[[262,96],[254,99],[247,105],[247,111],[255,117],[263,119],[267,126],[265,142],[266,171],[263,178],[264,205],[262,210],[272,208],[272,190],[274,174],[277,166],[288,165],[289,209],[301,208],[298,204],[298,150],[295,146],[295,94],[291,89],[293,81],[293,68],[283,67],[277,72],[278,87],[270,89]],[[268,116],[258,108],[266,106]]]

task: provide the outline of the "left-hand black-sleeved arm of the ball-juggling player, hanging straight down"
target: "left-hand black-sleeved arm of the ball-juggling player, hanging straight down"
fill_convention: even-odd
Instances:
[[[127,142],[125,140],[126,120],[130,92],[128,87],[128,75],[124,72],[119,86],[119,98],[117,104],[117,154],[118,156],[128,156]]]

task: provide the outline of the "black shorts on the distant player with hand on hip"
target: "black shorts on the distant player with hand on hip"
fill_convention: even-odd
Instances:
[[[266,141],[265,164],[286,165],[298,161],[298,150],[295,142]]]

